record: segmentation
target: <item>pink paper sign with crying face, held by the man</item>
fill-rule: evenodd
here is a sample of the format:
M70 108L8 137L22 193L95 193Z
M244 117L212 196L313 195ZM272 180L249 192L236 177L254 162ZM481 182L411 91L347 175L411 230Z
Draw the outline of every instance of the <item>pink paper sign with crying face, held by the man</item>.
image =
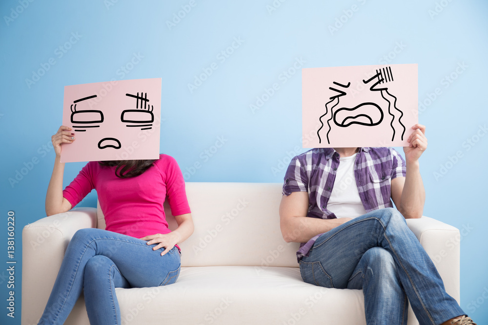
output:
M408 146L417 64L302 69L302 117L304 148Z

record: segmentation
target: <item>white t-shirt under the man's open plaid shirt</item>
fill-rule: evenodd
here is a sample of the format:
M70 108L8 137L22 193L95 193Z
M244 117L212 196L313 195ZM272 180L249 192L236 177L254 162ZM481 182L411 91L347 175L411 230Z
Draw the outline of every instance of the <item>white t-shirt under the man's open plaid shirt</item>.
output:
M327 210L334 212L338 218L356 218L366 214L354 178L356 155L339 158L334 187L327 202Z

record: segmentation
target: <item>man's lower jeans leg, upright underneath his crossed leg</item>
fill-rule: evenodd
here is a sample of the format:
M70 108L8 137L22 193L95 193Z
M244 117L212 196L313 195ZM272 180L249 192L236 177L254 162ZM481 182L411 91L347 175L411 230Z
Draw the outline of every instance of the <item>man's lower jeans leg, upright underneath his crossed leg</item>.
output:
M407 324L408 300L391 254L381 247L366 250L348 289L363 289L366 324Z

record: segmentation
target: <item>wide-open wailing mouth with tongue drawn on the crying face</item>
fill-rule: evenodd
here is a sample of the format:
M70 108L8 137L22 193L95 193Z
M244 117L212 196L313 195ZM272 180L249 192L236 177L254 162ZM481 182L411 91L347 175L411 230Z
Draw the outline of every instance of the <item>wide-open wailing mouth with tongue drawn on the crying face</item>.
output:
M375 126L383 121L383 111L375 103L361 103L354 108L340 108L334 113L334 123L340 127L351 124Z

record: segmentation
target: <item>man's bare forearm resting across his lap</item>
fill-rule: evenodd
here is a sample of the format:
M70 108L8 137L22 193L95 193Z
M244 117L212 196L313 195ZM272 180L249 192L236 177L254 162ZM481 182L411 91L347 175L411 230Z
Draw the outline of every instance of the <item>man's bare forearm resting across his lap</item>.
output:
M283 238L287 243L305 243L313 236L334 229L349 220L349 218L319 219L293 217L286 222L286 225L282 225L281 228Z

